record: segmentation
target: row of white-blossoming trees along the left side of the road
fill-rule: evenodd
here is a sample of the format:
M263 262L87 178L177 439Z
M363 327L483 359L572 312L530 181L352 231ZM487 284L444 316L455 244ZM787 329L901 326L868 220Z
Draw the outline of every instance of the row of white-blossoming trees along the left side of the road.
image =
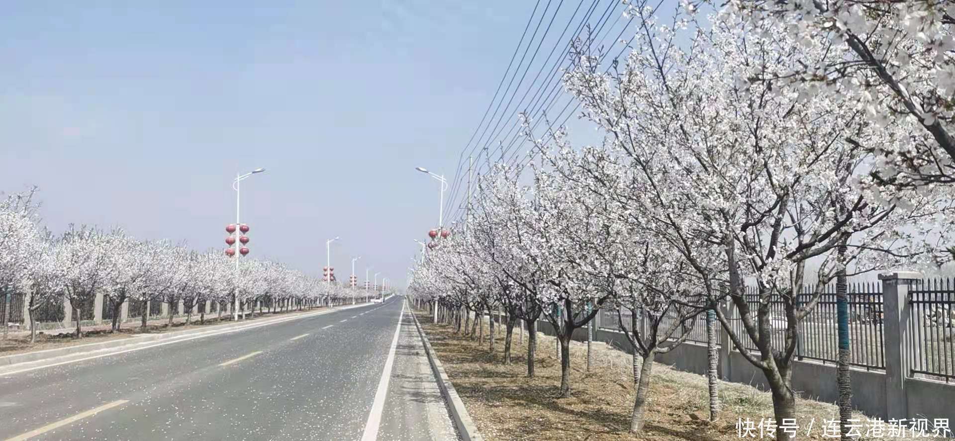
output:
M251 308L254 315L257 304L292 309L366 295L322 283L282 263L230 258L219 249L199 252L169 241L140 241L121 229L71 225L54 236L36 219L34 192L0 201L0 286L30 293L31 320L32 312L48 302L66 300L74 311L77 338L83 335L79 310L91 306L97 292L114 308L114 330L120 325L119 309L129 301L181 303L188 323L193 307L207 302L223 311L238 298L242 309ZM240 259L238 274L235 259ZM174 310L169 308L170 323ZM200 308L200 320L204 311ZM141 317L145 327L147 315Z

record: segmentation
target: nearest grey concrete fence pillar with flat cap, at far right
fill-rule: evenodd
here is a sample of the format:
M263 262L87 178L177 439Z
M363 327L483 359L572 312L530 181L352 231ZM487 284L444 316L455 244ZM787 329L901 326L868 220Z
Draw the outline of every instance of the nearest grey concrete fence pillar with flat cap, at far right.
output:
M910 339L908 322L911 306L908 304L908 290L912 282L922 279L915 271L897 271L880 274L882 282L882 302L884 318L882 331L885 338L885 410L887 418L907 418L908 400L905 378L908 376L910 358L918 347L912 347L906 353L905 341Z

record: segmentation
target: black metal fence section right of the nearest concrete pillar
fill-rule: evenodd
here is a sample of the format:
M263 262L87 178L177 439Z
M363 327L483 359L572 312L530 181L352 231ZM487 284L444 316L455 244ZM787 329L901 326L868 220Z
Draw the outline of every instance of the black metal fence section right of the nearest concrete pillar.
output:
M955 284L951 279L928 279L908 292L909 322L904 356L910 374L955 382Z

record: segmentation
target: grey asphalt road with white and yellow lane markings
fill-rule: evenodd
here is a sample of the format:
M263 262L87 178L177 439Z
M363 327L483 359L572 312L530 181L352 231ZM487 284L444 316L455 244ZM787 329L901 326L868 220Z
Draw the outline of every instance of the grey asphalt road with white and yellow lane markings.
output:
M402 302L0 376L0 440L457 439Z

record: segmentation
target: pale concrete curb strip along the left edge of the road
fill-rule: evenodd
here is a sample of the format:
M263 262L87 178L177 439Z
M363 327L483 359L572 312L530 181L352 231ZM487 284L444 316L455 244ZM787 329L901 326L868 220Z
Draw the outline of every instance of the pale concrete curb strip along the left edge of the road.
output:
M243 321L243 322L232 322L224 325L210 325L202 327L199 329L187 329L180 331L164 332L161 334L144 334L138 335L135 337L129 337L124 339L111 340L109 342L99 342L99 343L89 343L86 345L76 345L72 347L56 347L53 349L44 349L36 350L32 352L24 352L20 354L5 355L0 357L0 368L9 368L13 365L21 365L24 363L30 362L41 362L49 361L61 357L67 357L70 355L78 354L89 354L93 352L98 352L107 349L123 349L128 347L135 347L141 344L153 343L162 340L173 340L178 338L186 338L192 336L199 336L206 333L216 333L234 327L241 326L251 326L251 325L271 325L273 322L286 322L289 320L296 320L300 318L312 317L315 315L327 314L333 311L340 311L343 309L350 309L353 307L368 306L375 304L361 304L361 305L348 305L348 306L339 306L333 309L326 309L322 311L314 311L311 313L293 315L293 316L279 316L279 317L269 317L265 321Z

